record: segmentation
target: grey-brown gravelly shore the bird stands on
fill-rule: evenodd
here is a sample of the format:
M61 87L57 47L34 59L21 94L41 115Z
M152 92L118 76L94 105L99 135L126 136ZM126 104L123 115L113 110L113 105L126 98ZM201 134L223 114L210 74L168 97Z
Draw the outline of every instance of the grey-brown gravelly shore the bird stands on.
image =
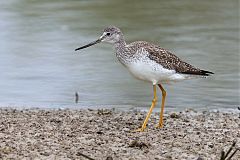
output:
M141 111L2 108L0 159L218 160L233 141L240 146L237 113L167 112L163 129L155 128L159 114L153 113L145 132L132 132L145 116ZM240 151L232 158L237 159Z

